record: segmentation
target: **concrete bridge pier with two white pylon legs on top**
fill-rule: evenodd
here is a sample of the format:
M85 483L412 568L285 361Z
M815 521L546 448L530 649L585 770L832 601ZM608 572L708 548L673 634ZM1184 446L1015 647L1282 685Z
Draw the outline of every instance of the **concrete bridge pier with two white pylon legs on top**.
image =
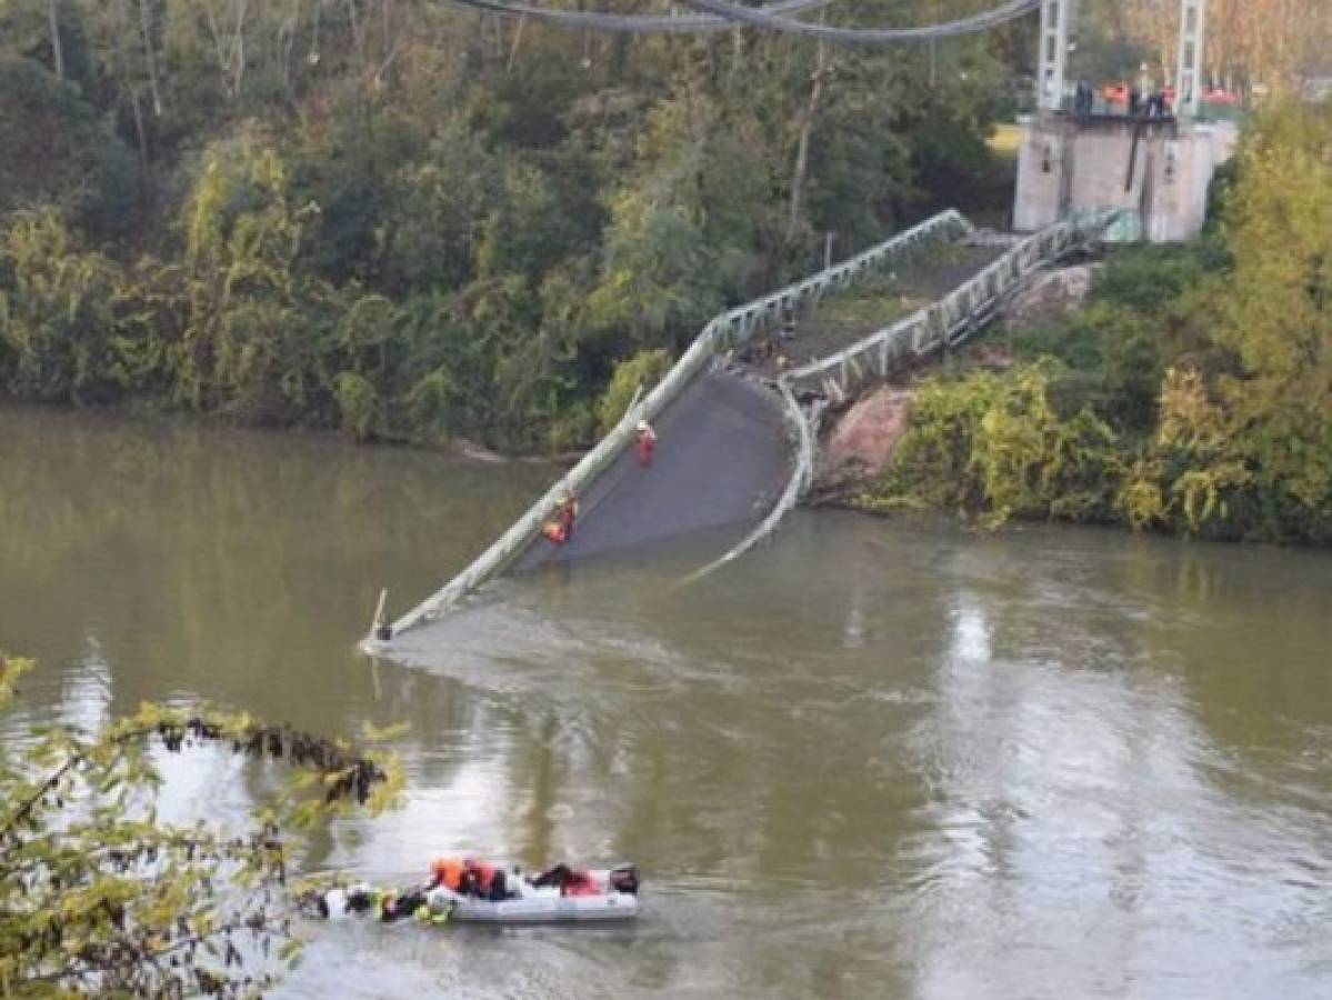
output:
M1180 0L1180 32L1168 109L1098 108L1070 84L1068 61L1082 0L1040 8L1036 112L1019 120L1014 228L1036 230L1071 212L1123 208L1108 240L1188 240L1203 228L1207 189L1235 146L1229 124L1199 121L1207 0Z

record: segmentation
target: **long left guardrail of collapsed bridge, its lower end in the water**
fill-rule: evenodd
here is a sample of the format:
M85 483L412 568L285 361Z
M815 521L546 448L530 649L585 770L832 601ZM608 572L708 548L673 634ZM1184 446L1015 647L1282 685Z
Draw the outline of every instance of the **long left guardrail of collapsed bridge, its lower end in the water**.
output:
M782 321L785 313L817 304L830 289L846 288L868 270L930 244L958 238L972 230L971 222L956 209L947 209L831 268L713 317L670 372L638 406L631 406L591 451L555 481L470 566L398 618L393 623L392 634L398 635L422 622L438 618L468 594L503 573L541 534L542 525L555 511L561 497L566 493L573 495L586 493L597 477L633 443L638 421L653 419L666 409L667 403L711 362L715 354L743 344L759 329L775 326ZM373 651L377 646L380 646L380 640L374 636L364 643L368 651Z

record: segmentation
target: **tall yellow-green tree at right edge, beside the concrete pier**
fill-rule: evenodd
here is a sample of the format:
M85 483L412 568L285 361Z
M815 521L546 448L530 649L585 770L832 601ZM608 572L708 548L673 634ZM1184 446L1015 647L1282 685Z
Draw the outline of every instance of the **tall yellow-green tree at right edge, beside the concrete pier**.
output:
M1199 296L1197 318L1233 358L1209 391L1224 433L1245 445L1244 481L1275 538L1332 533L1329 144L1332 104L1283 104L1257 119L1225 197L1233 268Z

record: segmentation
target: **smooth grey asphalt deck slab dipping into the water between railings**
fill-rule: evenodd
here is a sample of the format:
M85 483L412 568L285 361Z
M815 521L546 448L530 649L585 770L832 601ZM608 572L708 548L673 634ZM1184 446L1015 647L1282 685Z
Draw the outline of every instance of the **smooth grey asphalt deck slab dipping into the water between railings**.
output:
M791 442L775 391L709 372L654 421L658 447L639 469L633 449L579 498L565 545L538 539L518 562L530 569L621 551L725 525L750 525L773 506L791 473Z

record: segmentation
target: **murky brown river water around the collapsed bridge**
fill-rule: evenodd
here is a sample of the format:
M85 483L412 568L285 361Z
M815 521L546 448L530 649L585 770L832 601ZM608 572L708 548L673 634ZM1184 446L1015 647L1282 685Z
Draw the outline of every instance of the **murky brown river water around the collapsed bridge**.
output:
M0 410L0 738L209 699L408 722L309 868L631 859L634 927L316 927L285 996L1332 995L1332 558L802 513L551 569L354 651L539 465ZM238 822L253 764L168 760Z

